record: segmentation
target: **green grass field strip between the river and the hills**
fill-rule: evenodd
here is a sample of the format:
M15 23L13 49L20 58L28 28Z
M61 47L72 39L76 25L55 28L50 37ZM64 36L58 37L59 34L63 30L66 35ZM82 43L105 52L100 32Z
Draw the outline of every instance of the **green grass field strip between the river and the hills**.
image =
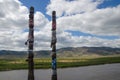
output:
M35 58L35 69L48 69L51 68L50 58ZM120 55L106 56L106 57L71 57L71 58L58 58L57 67L79 67L99 64L120 63ZM0 59L0 71L4 70L18 70L27 69L28 63L26 59Z

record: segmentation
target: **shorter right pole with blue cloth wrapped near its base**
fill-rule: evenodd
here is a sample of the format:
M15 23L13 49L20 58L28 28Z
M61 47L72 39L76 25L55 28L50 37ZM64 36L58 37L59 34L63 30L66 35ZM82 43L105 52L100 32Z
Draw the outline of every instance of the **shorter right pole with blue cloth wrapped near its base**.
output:
M52 80L57 80L57 62L56 62L56 12L52 12Z

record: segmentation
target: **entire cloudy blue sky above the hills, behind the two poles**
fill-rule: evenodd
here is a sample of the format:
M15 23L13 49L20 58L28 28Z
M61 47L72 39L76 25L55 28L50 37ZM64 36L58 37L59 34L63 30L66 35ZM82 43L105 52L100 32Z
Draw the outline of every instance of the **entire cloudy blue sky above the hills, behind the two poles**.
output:
M57 49L120 48L120 0L0 0L0 50L28 50L30 6L35 8L34 50L51 50L53 10Z

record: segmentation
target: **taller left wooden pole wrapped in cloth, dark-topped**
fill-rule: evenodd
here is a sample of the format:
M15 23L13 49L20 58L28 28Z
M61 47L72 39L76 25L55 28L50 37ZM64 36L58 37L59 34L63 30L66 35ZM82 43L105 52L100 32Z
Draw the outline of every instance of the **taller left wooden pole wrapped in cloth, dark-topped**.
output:
M33 45L34 45L34 7L30 7L29 14L29 35L25 43L28 44L28 80L34 80L34 61L33 61Z

